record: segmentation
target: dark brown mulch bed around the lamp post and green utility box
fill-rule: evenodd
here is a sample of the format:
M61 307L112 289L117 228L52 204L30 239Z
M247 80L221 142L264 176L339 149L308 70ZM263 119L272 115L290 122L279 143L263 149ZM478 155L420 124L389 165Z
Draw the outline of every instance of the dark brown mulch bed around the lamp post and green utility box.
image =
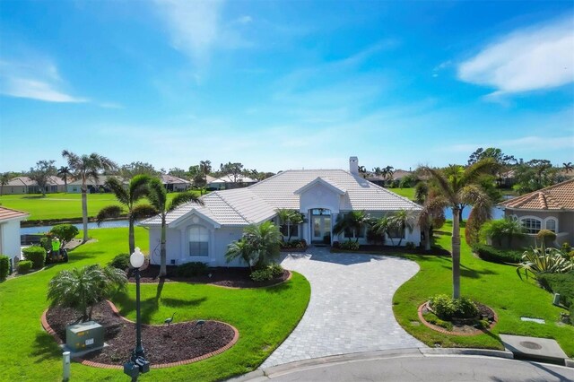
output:
M117 315L108 301L101 301L93 308L91 316L105 327L104 341L109 346L83 355L83 360L121 366L135 348L135 323ZM72 308L49 308L46 313L48 325L65 342L65 326L80 322L81 315ZM152 365L201 357L215 352L231 343L235 337L232 326L217 321L196 321L170 326L142 326L142 344L146 358Z

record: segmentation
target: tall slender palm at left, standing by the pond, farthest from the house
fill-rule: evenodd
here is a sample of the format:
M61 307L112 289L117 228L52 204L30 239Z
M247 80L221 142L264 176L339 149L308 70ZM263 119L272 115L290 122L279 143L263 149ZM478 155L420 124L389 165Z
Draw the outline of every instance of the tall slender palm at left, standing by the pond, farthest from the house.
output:
M116 163L95 152L90 155L79 156L74 152L64 150L62 156L68 162L75 178L82 179L82 222L83 222L83 242L88 241L88 179L98 180L98 171L109 171L117 169Z

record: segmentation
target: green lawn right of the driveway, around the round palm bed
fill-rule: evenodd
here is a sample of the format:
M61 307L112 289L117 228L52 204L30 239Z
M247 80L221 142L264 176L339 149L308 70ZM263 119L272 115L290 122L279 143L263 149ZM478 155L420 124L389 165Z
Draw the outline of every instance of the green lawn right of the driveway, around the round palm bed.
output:
M450 227L448 223L443 230ZM440 334L426 326L413 325L419 322L417 308L422 302L439 293L452 293L451 260L445 256L407 255L421 266L421 271L405 282L393 298L399 324L429 346L503 349L498 334L517 334L553 338L569 357L574 356L574 326L558 324L560 312L566 310L552 305L552 294L532 279L520 280L513 265L475 258L465 244L464 230L461 236L461 293L493 308L499 323L491 333L469 337ZM450 236L439 235L438 244L449 249ZM543 318L546 324L524 322L520 317Z

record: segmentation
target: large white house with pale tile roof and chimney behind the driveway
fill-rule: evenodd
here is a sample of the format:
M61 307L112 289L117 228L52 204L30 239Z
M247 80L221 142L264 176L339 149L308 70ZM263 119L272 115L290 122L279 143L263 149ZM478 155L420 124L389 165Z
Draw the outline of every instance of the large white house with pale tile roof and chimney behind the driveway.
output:
M202 196L204 206L184 204L167 215L168 264L200 261L211 266L225 266L225 252L231 241L241 238L250 223L274 221L276 210L288 208L304 216L300 226L291 226L293 239L313 244L332 244L352 236L345 232L331 235L339 215L365 211L373 217L409 210L419 213L422 207L385 188L361 178L356 157L350 160L350 171L343 169L287 170L250 187L214 191ZM161 219L156 216L141 223L150 228L152 264L160 262ZM421 230L400 232L403 245L419 245ZM397 234L398 236L398 234ZM358 234L366 243L366 230ZM395 240L396 241L396 240ZM388 241L387 241L388 242ZM239 260L230 266L245 266Z

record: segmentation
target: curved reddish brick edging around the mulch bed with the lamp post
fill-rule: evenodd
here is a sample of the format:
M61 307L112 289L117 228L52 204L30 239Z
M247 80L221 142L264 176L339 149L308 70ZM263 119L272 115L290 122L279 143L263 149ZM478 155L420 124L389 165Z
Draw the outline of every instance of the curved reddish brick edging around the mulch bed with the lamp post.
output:
M126 317L123 317L122 315L120 315L119 311L117 310L117 308L113 302L111 302L110 300L107 300L107 301L109 303L109 307L112 309L114 314L117 315L117 317L122 318L126 322L135 324L134 321L129 320ZM46 332L48 332L48 334L50 334L54 337L54 339L57 341L57 343L63 344L64 342L62 341L62 339L56 334L54 329L52 329L52 327L49 326L48 320L46 318L47 313L48 313L48 309L44 310L44 313L42 313L42 317L41 317L42 327L44 328L44 330L46 330ZM152 369L165 369L165 368L173 368L175 366L187 365L189 363L197 362L199 360L206 360L210 357L213 357L214 355L221 354L222 352L229 350L239 340L238 330L235 328L235 326L231 326L230 324L228 324L226 322L222 322L222 321L214 321L214 322L218 322L220 324L230 326L230 328L233 329L233 333L234 333L233 339L230 341L230 343L226 344L222 348L219 348L213 352L208 352L208 353L206 353L204 355L200 355L199 357L196 357L196 358L191 358L189 360L178 360L177 362L161 363L159 365L152 365L151 368ZM176 323L176 324L172 324L172 325L178 325L178 324L183 324L183 323ZM147 325L147 324L145 324L145 325ZM123 366L120 366L120 365L109 365L107 363L92 362L91 360L84 360L81 357L74 357L74 360L85 365L85 366L91 366L91 367L100 368L100 369L123 369L124 368Z

